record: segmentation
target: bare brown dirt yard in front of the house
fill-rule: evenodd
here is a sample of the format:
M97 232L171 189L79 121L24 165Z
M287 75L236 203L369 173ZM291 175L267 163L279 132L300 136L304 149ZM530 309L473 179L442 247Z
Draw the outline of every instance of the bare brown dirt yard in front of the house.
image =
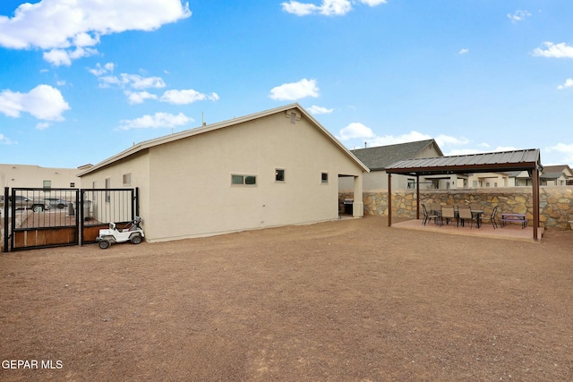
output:
M369 216L2 253L0 288L3 381L573 380L571 231Z

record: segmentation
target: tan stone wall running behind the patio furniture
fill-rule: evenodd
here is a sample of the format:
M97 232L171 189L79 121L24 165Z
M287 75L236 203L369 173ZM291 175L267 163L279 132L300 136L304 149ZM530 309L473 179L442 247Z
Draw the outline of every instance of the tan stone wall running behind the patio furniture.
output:
M392 216L415 218L415 190L392 191ZM352 192L341 192L339 201L352 199ZM500 206L498 213L526 214L533 224L533 194L531 187L490 189L420 190L422 203L467 205L480 203L484 213ZM363 191L364 215L388 216L388 191ZM573 221L573 186L543 186L539 189L539 221L542 226L569 229ZM420 209L422 215L422 209ZM499 218L499 216L498 216Z

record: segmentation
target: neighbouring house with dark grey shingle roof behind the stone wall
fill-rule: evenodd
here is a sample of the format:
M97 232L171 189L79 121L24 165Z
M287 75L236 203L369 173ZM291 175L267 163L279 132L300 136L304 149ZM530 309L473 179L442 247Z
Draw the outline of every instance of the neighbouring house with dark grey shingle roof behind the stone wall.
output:
M386 166L404 159L416 159L423 157L443 157L438 143L435 140L418 140L415 142L399 143L396 145L377 146L365 149L353 149L351 152L370 168L369 174L363 176L363 190L387 190L388 175ZM463 178L459 175L459 178ZM426 188L447 188L449 187L449 176L428 176L421 180ZM454 182L458 182L458 177ZM441 187L440 187L441 186ZM415 187L415 178L406 176L394 176L392 178L392 189L407 189ZM422 186L421 186L422 187ZM352 190L353 184L347 180L341 180L340 191Z

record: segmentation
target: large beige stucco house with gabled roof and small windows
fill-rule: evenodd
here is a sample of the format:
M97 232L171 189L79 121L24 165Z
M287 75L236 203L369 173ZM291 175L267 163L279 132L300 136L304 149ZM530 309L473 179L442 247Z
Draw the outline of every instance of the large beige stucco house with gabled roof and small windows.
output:
M150 242L338 218L338 178L363 216L368 168L291 104L147 140L83 171L84 188L139 187Z

